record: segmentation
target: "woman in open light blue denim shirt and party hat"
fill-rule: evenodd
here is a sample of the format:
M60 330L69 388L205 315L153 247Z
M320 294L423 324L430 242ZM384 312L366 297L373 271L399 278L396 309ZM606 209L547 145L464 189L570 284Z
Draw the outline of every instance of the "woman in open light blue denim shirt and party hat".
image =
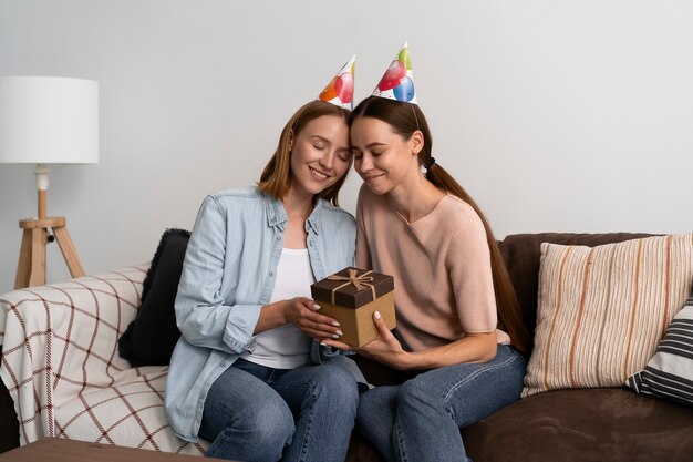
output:
M338 207L352 163L352 64L289 120L257 187L209 195L197 215L166 412L182 439L211 441L209 456L345 458L363 377L314 340L342 332L310 285L353 263L354 218Z

